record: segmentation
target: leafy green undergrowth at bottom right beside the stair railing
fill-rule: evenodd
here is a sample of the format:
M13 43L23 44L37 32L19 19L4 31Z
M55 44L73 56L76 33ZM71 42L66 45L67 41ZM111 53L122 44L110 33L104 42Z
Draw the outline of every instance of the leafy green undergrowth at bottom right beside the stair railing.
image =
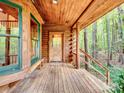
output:
M98 71L105 74L104 70L99 66L92 64ZM110 78L112 80L112 93L124 93L124 69L119 69L117 67L111 66L110 70Z

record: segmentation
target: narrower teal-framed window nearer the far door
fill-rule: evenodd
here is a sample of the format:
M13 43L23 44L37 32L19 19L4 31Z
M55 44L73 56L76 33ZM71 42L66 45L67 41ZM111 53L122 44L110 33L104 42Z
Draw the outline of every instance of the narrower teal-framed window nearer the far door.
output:
M31 64L34 64L40 58L40 25L31 15Z

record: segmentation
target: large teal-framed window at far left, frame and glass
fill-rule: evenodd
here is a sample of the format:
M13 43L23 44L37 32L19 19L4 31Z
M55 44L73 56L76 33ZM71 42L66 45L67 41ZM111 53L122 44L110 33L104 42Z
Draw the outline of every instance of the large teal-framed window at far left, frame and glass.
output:
M0 1L0 72L21 66L20 19L20 6Z

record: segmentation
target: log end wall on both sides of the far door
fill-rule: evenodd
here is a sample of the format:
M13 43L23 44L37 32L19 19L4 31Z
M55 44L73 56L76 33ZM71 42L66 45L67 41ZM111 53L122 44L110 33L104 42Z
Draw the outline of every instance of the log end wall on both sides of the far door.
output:
M43 29L42 32L42 57L47 58L47 62L49 62L49 32L50 30ZM59 32L59 31L58 31ZM72 41L70 35L72 35ZM70 46L70 43L72 45ZM72 47L72 48L71 48ZM76 57L72 54L70 57L70 52L76 53L76 30L73 29L72 33L70 29L64 30L64 62L70 62L72 64L76 64Z

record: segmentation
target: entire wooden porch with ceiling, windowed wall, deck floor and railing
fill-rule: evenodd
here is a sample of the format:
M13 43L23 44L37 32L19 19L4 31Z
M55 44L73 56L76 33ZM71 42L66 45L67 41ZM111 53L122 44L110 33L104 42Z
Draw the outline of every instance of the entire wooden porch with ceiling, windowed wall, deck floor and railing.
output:
M0 0L0 93L108 93L110 72L87 53L87 44L80 49L79 32L122 3ZM80 69L81 63L85 69Z

